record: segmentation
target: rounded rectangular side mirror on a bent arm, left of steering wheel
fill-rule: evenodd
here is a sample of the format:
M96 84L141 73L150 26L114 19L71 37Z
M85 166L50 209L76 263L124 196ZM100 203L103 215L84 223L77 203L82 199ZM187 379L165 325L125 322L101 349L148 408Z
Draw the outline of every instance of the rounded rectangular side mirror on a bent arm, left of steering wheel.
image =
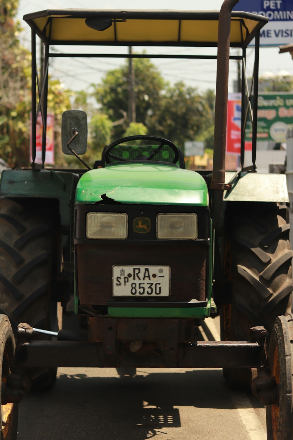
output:
M76 154L84 154L87 151L87 114L82 110L67 110L62 114L61 128L64 154L73 155L67 144L75 132L78 132L78 135L70 143L70 148Z

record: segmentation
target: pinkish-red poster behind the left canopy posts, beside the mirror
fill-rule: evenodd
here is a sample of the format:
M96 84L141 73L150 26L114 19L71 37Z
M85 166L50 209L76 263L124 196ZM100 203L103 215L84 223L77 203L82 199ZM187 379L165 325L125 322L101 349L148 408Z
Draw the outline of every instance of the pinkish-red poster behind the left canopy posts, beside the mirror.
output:
M42 136L43 123L41 114L36 121L36 163L42 163ZM32 147L30 148L30 157L32 160ZM54 164L54 115L47 114L47 135L46 135L46 159L45 164Z

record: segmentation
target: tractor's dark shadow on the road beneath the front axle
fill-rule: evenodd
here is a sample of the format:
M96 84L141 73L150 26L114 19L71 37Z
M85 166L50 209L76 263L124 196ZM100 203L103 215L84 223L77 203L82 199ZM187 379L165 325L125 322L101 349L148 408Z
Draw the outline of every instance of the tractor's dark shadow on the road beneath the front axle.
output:
M18 440L168 439L166 429L181 427L177 407L235 408L221 370L156 369L143 375L151 369L138 368L134 378L120 378L115 369L107 369L110 377L89 377L101 369L86 369L88 375L67 370L59 372L51 391L22 400ZM256 399L253 405L262 407Z

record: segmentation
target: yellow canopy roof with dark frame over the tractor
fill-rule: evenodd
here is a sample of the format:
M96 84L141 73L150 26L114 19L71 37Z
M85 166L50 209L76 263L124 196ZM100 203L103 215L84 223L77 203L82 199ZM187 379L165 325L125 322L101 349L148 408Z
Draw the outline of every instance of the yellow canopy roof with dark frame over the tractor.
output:
M112 25L99 31L86 19L111 19ZM47 44L217 46L219 11L63 9L27 14L24 20ZM261 15L232 11L231 46L246 46L266 22Z

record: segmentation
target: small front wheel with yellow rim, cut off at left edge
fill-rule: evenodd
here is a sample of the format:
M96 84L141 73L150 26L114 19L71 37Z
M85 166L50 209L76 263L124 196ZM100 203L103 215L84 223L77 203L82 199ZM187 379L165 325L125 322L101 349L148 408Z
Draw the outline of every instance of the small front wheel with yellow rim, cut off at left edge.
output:
M15 352L14 334L11 324L6 315L0 315L0 372L1 384L7 381L11 373L12 362ZM1 389L0 389L1 400ZM2 405L0 418L0 439L16 440L18 424L18 403L6 403Z

